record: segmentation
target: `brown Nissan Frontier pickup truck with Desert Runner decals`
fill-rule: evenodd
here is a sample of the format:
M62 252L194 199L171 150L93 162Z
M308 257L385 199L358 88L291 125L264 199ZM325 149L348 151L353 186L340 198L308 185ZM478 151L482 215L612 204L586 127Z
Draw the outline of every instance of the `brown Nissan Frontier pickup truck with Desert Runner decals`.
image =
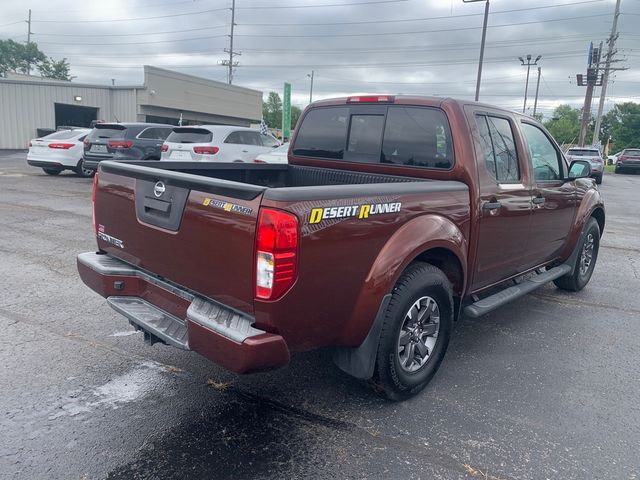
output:
M78 270L148 343L238 373L331 347L398 400L435 374L458 317L587 284L605 222L590 173L488 105L320 101L288 165L101 162L98 251Z

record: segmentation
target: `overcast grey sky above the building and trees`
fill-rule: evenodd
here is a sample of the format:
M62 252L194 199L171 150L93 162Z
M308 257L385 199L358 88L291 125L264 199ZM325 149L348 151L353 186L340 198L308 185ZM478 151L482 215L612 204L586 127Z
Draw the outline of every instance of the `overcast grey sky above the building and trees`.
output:
M75 81L141 84L142 65L226 81L231 0L3 0L0 38L32 41L66 57ZM542 55L538 110L581 106L590 41L611 30L615 0L491 0L480 100L522 109L526 67ZM236 0L234 84L265 92L293 85L293 103L354 93L473 98L484 1ZM640 0L622 0L613 102L640 102ZM149 18L162 17L162 18ZM22 21L22 22L21 22ZM528 111L537 71L531 69Z

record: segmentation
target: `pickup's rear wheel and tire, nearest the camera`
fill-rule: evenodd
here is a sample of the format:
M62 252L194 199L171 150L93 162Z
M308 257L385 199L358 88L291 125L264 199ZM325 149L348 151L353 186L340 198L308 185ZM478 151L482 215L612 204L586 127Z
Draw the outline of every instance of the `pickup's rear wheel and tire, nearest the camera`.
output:
M444 273L415 263L402 274L385 312L374 387L390 400L419 393L442 363L453 328L453 292Z

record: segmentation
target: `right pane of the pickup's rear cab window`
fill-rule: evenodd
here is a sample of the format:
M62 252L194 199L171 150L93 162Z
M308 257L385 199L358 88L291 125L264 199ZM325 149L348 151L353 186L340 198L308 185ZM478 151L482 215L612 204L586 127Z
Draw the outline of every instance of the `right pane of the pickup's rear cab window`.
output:
M444 112L427 107L390 106L381 161L450 169L453 166L453 143Z

